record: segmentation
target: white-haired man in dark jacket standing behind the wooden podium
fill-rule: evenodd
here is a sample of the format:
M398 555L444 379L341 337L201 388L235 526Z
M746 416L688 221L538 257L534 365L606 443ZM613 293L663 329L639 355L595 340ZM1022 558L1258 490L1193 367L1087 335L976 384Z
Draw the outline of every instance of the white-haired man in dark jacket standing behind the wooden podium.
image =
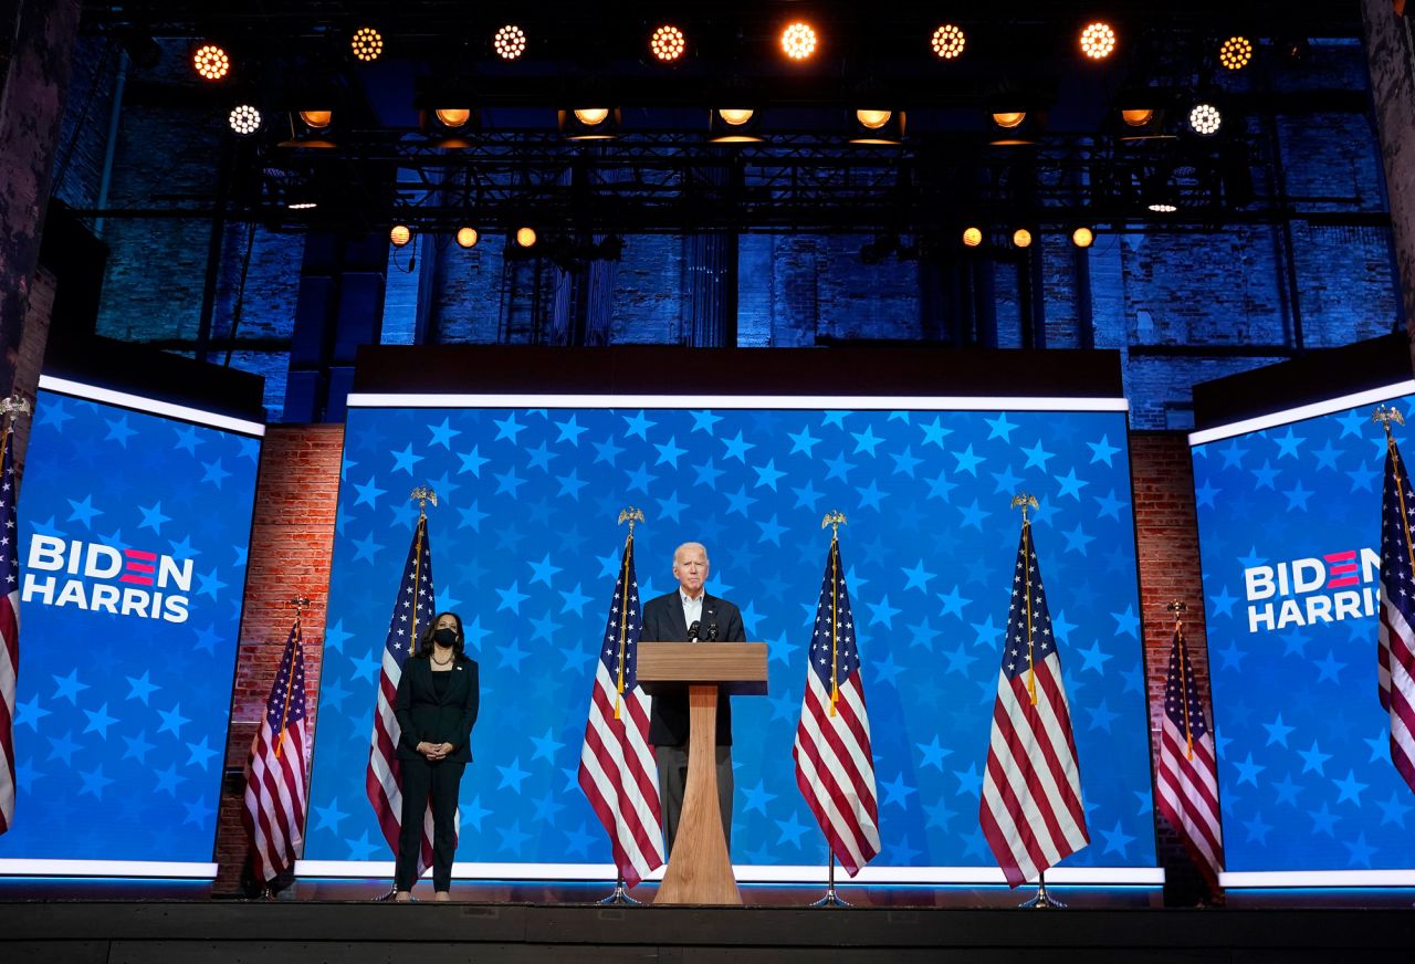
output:
M674 551L674 578L678 589L644 604L644 631L640 638L654 643L744 643L747 633L741 613L726 599L703 590L708 580L708 549L699 542L683 542ZM696 627L696 633L692 631ZM674 849L678 815L683 808L683 784L688 780L688 692L654 696L648 723L648 742L658 763L658 793L664 807L664 842ZM717 804L722 807L722 831L732 847L732 701L717 699Z

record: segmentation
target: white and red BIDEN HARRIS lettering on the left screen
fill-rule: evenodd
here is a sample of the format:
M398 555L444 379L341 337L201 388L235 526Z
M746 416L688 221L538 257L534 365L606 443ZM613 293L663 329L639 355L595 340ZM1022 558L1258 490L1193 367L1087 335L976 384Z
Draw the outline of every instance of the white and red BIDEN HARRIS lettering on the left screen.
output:
M20 602L185 623L191 576L191 559L35 535L25 555Z

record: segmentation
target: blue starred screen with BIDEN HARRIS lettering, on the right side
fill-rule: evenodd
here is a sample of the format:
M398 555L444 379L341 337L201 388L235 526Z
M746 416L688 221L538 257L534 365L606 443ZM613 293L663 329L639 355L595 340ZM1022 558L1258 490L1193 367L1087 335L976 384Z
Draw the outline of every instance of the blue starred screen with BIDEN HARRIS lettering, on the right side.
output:
M1230 871L1415 866L1377 701L1384 460L1370 405L1193 449Z

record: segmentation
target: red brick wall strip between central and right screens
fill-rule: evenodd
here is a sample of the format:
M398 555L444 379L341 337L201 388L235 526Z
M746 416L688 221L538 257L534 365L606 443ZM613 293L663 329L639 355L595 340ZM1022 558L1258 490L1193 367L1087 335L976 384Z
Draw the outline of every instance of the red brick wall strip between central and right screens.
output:
M1194 512L1194 471L1189 442L1177 432L1131 433L1131 484L1135 490L1135 541L1140 568L1140 612L1145 626L1145 684L1150 706L1150 752L1159 746L1165 706L1165 674L1174 624L1166 606L1189 603L1184 638L1204 712L1213 719L1208 696L1208 641L1204 633L1204 586L1199 563L1199 522ZM1204 883L1174 831L1155 817L1157 855L1166 876L1166 903L1196 903Z

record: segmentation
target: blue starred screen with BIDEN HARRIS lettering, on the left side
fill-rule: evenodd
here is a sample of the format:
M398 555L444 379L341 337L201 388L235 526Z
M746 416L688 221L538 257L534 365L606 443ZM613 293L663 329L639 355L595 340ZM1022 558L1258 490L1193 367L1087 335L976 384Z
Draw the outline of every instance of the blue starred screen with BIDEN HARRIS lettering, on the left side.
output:
M211 862L259 453L38 392L0 859Z

